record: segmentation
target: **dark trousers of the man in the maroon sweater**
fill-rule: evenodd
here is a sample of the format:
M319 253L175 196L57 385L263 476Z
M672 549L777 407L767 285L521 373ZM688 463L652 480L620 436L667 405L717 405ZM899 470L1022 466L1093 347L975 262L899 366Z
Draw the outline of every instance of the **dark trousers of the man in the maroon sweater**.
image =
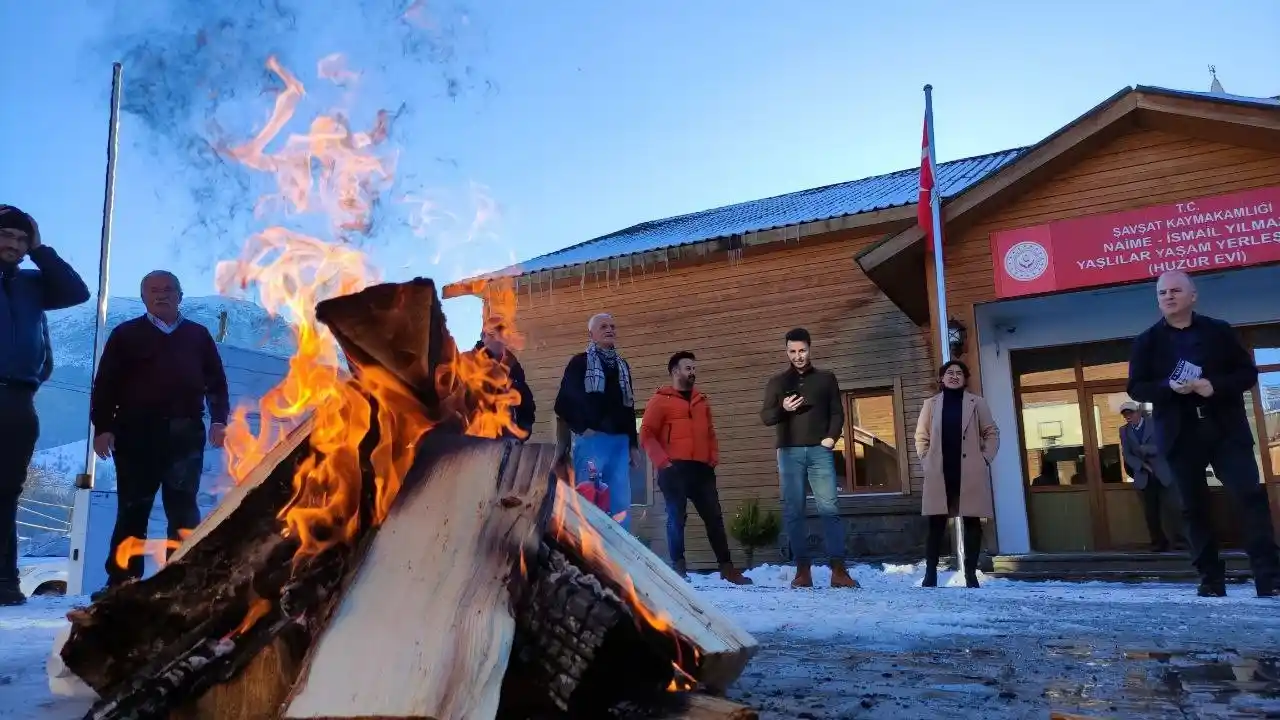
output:
M115 433L115 529L106 559L110 583L141 578L143 557L127 568L115 562L125 538L147 538L156 492L164 502L169 539L200 524L200 475L205 469L205 424L200 419L161 418L122 423Z

